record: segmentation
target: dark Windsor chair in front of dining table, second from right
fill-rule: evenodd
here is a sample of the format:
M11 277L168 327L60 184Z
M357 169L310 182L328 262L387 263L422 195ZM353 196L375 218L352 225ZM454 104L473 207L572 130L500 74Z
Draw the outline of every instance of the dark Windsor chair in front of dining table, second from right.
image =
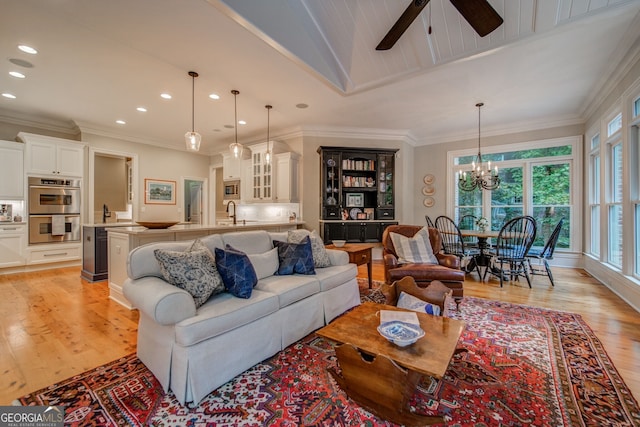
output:
M482 280L490 273L500 279L502 287L504 280L513 281L524 276L531 287L526 256L536 239L536 228L536 220L528 215L513 218L505 223L496 239L492 265L485 269Z

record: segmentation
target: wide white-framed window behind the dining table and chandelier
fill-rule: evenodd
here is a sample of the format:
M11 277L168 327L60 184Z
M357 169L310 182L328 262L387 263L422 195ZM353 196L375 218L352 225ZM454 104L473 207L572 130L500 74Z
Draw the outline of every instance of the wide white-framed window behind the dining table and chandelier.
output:
M510 145L509 151L499 151L494 147L494 152L483 152L483 160L491 160L492 166L495 164L499 168L500 187L493 191L466 192L456 186L452 218L457 221L468 214L484 216L489 219L492 230L500 230L512 218L531 215L538 226L536 247L544 246L560 218L564 218L556 248L571 250L576 244L572 231L579 229L575 224L571 190L573 180L579 177L574 176L573 170L575 145L567 141L563 138L531 142L519 144L521 149L517 150ZM456 156L456 153L450 153L450 159L452 170L460 172L465 170L460 165L471 164L475 155Z

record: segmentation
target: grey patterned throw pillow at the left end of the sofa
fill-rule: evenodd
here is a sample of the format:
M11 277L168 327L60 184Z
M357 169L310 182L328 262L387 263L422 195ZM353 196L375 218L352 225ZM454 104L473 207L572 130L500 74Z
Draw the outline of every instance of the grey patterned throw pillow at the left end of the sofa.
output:
M154 250L164 279L189 292L196 308L213 294L222 292L224 285L211 251L196 239L186 251Z

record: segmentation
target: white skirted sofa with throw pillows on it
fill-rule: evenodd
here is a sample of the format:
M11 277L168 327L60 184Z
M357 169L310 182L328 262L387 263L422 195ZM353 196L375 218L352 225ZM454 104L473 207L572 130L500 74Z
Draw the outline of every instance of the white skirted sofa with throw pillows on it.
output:
M264 230L200 238L214 252L229 244L247 255L266 253L287 233ZM124 295L140 311L140 360L180 403L198 403L253 365L360 304L357 267L346 252L327 250L331 266L315 275L273 275L258 280L251 297L228 292L197 308L192 296L169 283L155 249L184 251L193 241L135 248L128 257ZM252 261L255 262L255 261Z

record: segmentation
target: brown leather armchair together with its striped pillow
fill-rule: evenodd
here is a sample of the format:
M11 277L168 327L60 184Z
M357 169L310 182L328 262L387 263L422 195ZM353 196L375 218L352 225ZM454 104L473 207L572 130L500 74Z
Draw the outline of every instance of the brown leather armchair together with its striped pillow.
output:
M416 284L427 287L438 280L453 291L459 302L463 297L464 271L455 255L440 253L438 230L420 225L391 225L382 234L382 257L386 283L411 276Z

